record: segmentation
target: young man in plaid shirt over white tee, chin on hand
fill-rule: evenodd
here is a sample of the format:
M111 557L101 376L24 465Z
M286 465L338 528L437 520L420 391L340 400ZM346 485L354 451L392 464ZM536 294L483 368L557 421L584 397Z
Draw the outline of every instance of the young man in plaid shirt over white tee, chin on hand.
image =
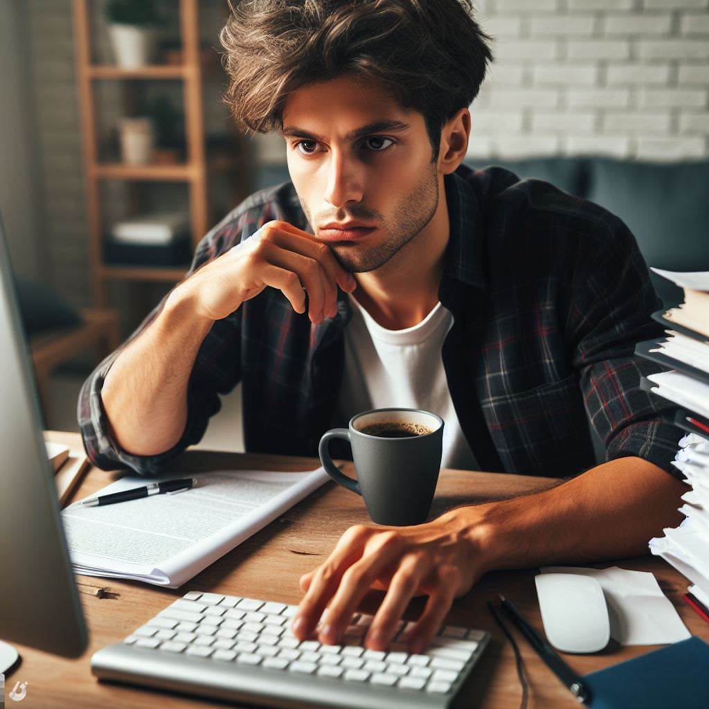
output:
M681 431L633 355L659 333L659 302L632 234L545 182L462 164L486 40L468 0L239 4L222 33L227 100L240 124L284 136L292 182L217 225L82 391L103 467L160 469L242 381L247 450L316 455L353 413L413 406L445 419L444 465L570 477L417 527L347 530L301 580L301 638L327 607L319 637L337 642L384 588L367 645L386 647L427 595L415 651L490 569L644 554L679 521Z

